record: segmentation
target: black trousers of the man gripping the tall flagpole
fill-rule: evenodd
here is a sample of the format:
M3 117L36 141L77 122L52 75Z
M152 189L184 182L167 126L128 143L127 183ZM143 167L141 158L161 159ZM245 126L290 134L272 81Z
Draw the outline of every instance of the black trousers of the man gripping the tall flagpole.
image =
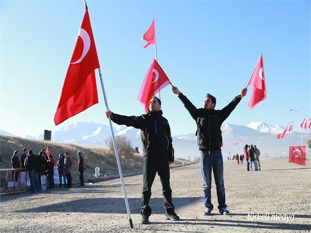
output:
M151 197L151 187L155 180L157 172L162 184L162 193L164 197L164 206L167 214L173 214L174 205L172 202L172 189L170 186L170 166L168 160L150 161L144 160L143 167L143 187L141 195L141 210L140 214L145 216L151 215L149 201Z

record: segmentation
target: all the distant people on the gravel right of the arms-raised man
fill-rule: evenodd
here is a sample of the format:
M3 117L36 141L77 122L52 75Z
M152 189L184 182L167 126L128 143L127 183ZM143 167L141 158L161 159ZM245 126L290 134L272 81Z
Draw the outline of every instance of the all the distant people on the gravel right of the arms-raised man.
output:
M243 148L243 154L236 154L233 155L231 157L231 155L229 155L227 157L227 160L236 160L238 164L243 164L243 161L246 160L247 163L247 171L252 171L253 170L253 166L254 166L254 170L255 171L260 171L260 160L259 160L259 156L260 156L260 150L257 148L256 145L253 146L253 144L251 145L245 145Z

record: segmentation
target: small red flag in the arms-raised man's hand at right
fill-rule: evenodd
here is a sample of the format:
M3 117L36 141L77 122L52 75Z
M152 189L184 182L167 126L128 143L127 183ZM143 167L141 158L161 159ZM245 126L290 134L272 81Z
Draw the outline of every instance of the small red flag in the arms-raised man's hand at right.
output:
M248 108L253 109L260 101L267 99L266 84L263 72L262 53L247 85L253 86Z

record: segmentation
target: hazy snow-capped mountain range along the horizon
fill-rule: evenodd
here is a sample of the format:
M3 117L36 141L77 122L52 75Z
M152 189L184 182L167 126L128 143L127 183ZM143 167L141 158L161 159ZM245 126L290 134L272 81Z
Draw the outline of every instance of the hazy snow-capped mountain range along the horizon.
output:
M283 139L276 139L276 134L282 132L285 127L272 126L265 122L251 122L247 126L226 124L221 127L224 146L222 147L223 157L234 154L242 154L245 144L257 145L261 157L288 157L289 146L301 145L301 134L298 131L291 131L285 134ZM133 127L118 126L113 128L115 135L124 135L132 143L132 147L138 147L142 151L140 132ZM0 134L14 136L11 133L0 131ZM27 139L42 140L43 134L37 136L27 135ZM93 122L75 122L57 131L52 131L52 141L59 143L71 143L82 146L104 147L105 140L111 137L108 125ZM194 160L199 156L195 132L175 135L173 147L175 157ZM309 139L309 132L303 132L304 145ZM234 145L236 144L236 145ZM308 157L309 154L309 157ZM307 158L310 158L310 150L307 149Z

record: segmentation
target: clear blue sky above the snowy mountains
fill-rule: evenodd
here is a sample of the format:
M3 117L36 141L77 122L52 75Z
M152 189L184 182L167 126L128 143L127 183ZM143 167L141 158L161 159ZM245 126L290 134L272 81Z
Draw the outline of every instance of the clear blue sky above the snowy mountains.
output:
M140 115L140 85L155 58L142 34L155 11L158 63L194 105L207 93L216 109L246 86L263 54L267 100L247 108L252 87L225 121L282 125L311 116L311 3L277 1L87 0L110 110ZM0 129L38 135L75 121L109 124L100 80L100 103L59 126L53 117L85 13L83 0L0 1ZM172 134L196 130L171 86L161 91Z

